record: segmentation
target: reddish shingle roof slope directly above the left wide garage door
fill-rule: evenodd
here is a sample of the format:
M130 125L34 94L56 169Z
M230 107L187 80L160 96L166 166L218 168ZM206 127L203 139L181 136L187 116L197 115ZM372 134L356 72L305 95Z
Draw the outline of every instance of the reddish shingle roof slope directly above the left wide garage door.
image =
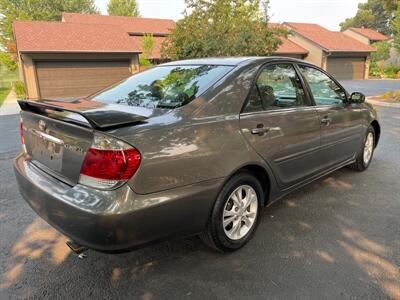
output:
M15 21L13 29L21 52L142 52L120 26Z

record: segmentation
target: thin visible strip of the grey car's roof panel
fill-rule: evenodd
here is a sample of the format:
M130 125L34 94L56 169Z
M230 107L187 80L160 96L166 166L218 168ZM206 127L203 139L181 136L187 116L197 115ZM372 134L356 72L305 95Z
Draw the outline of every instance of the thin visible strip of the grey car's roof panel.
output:
M293 61L303 62L303 60L284 56L239 56L239 57L209 57L196 58L187 60L177 60L161 64L160 66L177 66L177 65L221 65L221 66L238 66L242 63L251 63L256 61Z

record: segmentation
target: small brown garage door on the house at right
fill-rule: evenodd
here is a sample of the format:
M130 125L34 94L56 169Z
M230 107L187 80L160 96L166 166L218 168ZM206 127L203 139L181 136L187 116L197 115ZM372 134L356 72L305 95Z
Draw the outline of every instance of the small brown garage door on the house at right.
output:
M328 72L336 79L364 79L365 58L329 58Z

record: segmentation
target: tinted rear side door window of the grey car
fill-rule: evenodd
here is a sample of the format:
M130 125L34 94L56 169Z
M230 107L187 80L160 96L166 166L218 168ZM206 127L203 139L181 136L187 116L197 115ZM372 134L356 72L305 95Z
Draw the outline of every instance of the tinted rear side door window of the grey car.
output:
M261 103L260 103L261 102ZM258 104L259 103L259 104ZM290 64L266 66L250 92L246 112L308 105L300 78Z

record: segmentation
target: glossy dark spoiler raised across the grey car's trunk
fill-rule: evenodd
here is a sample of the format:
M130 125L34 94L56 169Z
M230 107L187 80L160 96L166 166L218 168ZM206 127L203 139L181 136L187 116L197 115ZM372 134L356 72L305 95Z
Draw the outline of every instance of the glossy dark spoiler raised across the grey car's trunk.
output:
M90 102L90 105L88 103ZM60 119L77 125L105 130L127 124L141 123L146 116L130 113L126 106L106 104L93 100L61 102L52 100L19 100L21 110ZM69 108L76 106L76 109ZM95 108L87 108L87 107Z

